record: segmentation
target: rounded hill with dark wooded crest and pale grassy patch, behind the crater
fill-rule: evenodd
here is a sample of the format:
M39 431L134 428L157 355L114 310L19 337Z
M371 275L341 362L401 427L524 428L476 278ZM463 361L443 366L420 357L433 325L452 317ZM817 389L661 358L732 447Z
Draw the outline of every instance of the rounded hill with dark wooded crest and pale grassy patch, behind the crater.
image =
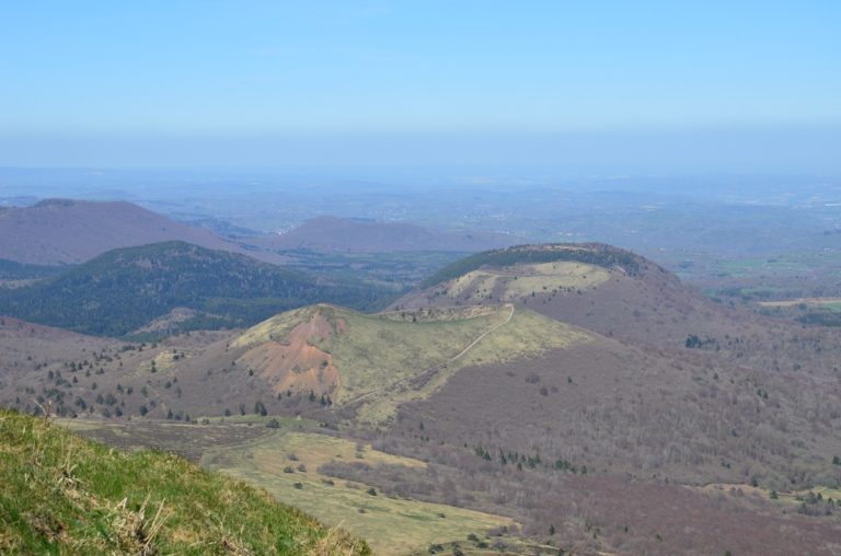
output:
M731 321L742 316L657 264L602 244L520 245L477 253L442 268L393 306L500 302L516 302L630 344L670 347L682 347L693 334L736 333L738 325Z

